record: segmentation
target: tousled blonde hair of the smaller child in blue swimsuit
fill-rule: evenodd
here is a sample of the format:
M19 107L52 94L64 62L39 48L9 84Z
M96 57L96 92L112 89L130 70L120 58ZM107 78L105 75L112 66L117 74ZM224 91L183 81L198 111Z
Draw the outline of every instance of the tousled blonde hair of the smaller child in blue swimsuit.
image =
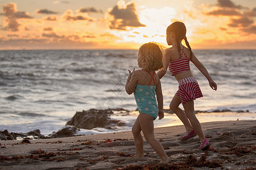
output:
M145 62L144 69L158 71L164 67L163 46L156 42L148 42L139 48L139 57Z

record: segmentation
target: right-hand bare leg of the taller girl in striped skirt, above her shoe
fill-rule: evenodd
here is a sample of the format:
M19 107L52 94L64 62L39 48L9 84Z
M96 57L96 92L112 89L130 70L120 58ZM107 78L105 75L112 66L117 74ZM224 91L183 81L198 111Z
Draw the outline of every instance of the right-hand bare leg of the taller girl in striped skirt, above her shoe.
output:
M200 125L200 122L196 118L194 100L189 100L187 103L183 104L183 107L185 109L185 114L187 115L189 121L191 122L191 125L193 126L194 130L196 131L196 134L199 136L201 142L203 143L205 141L205 136Z

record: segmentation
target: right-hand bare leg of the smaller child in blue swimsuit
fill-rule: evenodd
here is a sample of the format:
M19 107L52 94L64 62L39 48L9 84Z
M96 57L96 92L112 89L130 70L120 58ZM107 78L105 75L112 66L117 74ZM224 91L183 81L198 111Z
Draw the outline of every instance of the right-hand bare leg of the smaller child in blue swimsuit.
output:
M161 162L160 163L168 163L170 160L163 149L163 146L159 141L155 139L154 134L154 122L152 116L146 113L140 113L139 122L141 123L141 129L144 134L144 138L150 143L150 146L156 151L159 155Z

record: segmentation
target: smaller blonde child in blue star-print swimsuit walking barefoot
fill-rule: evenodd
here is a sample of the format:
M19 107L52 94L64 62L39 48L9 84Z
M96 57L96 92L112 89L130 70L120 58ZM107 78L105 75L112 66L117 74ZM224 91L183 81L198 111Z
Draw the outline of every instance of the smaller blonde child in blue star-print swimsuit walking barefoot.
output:
M134 93L139 110L139 116L132 129L136 148L134 158L143 158L142 131L146 141L159 155L160 163L168 163L169 159L163 146L155 139L153 122L157 117L159 120L164 117L162 87L158 75L155 74L155 71L163 68L163 61L162 48L158 44L143 44L138 52L138 66L141 70L128 70L125 89L129 95Z

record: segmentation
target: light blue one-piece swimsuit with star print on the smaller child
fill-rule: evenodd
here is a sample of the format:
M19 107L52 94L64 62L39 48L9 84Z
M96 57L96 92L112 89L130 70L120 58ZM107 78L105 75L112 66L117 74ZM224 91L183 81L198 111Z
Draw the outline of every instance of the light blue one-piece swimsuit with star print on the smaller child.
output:
M134 91L134 97L137 103L139 113L149 114L153 117L153 120L155 120L158 117L158 104L156 103L155 98L156 86L150 86L152 80L154 80L155 72L153 73L153 75L150 73L150 75L151 80L148 86L142 86L140 84L137 84Z

